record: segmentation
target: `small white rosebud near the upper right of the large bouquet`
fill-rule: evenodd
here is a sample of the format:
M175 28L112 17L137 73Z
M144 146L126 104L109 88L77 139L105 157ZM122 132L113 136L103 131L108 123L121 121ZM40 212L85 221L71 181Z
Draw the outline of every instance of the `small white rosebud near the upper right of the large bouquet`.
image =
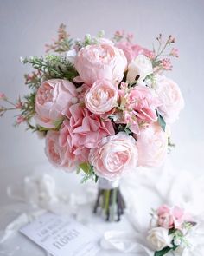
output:
M128 65L127 82L134 82L137 75L139 75L139 81L142 82L147 75L152 73L153 68L150 58L144 55L138 55Z

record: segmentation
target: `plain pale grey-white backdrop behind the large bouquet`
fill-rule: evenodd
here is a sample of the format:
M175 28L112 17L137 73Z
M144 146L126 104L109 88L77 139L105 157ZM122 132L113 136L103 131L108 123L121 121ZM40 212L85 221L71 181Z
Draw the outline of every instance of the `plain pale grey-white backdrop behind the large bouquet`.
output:
M146 47L160 32L172 34L180 58L169 76L180 85L186 108L173 128L177 147L171 157L181 167L203 167L203 11L203 0L0 0L0 91L10 98L27 91L23 74L29 67L19 57L41 56L60 23L73 37L124 29ZM0 119L0 170L46 161L44 142L23 126L13 128L12 116Z

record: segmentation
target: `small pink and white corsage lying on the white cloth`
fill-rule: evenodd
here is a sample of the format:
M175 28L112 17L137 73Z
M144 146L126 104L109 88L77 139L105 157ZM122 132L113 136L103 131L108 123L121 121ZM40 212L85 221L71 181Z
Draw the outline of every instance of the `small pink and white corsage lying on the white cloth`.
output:
M175 251L181 253L191 247L192 229L196 222L180 207L163 205L151 213L147 240L156 251L154 256L163 256Z

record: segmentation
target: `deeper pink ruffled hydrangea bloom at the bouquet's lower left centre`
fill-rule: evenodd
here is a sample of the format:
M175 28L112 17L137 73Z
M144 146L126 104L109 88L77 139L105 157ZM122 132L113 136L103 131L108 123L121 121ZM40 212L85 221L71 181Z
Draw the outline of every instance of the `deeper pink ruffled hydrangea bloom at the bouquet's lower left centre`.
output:
M60 144L68 147L74 161L87 161L90 148L96 148L103 137L115 134L111 121L101 121L99 115L79 103L69 108L67 117L69 120L61 127Z

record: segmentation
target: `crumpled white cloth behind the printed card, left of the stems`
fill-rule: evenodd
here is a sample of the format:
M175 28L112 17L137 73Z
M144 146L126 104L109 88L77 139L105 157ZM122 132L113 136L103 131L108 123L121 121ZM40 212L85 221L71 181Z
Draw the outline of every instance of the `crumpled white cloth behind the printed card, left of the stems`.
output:
M42 167L43 169L44 167ZM81 188L78 191L70 193L66 184L61 186L63 174L61 179L59 179L59 175L57 175L58 178L54 175L56 175L55 172L38 171L35 174L26 176L21 185L18 184L7 188L9 197L15 199L16 202L23 203L23 207L19 204L18 207L20 209L19 213L16 214L16 219L11 220L3 230L0 228L0 244L17 233L21 226L35 220L35 218L47 211L72 215L76 220L84 223L90 220L92 202L97 193L96 187L92 186L92 184L89 187L80 186Z

